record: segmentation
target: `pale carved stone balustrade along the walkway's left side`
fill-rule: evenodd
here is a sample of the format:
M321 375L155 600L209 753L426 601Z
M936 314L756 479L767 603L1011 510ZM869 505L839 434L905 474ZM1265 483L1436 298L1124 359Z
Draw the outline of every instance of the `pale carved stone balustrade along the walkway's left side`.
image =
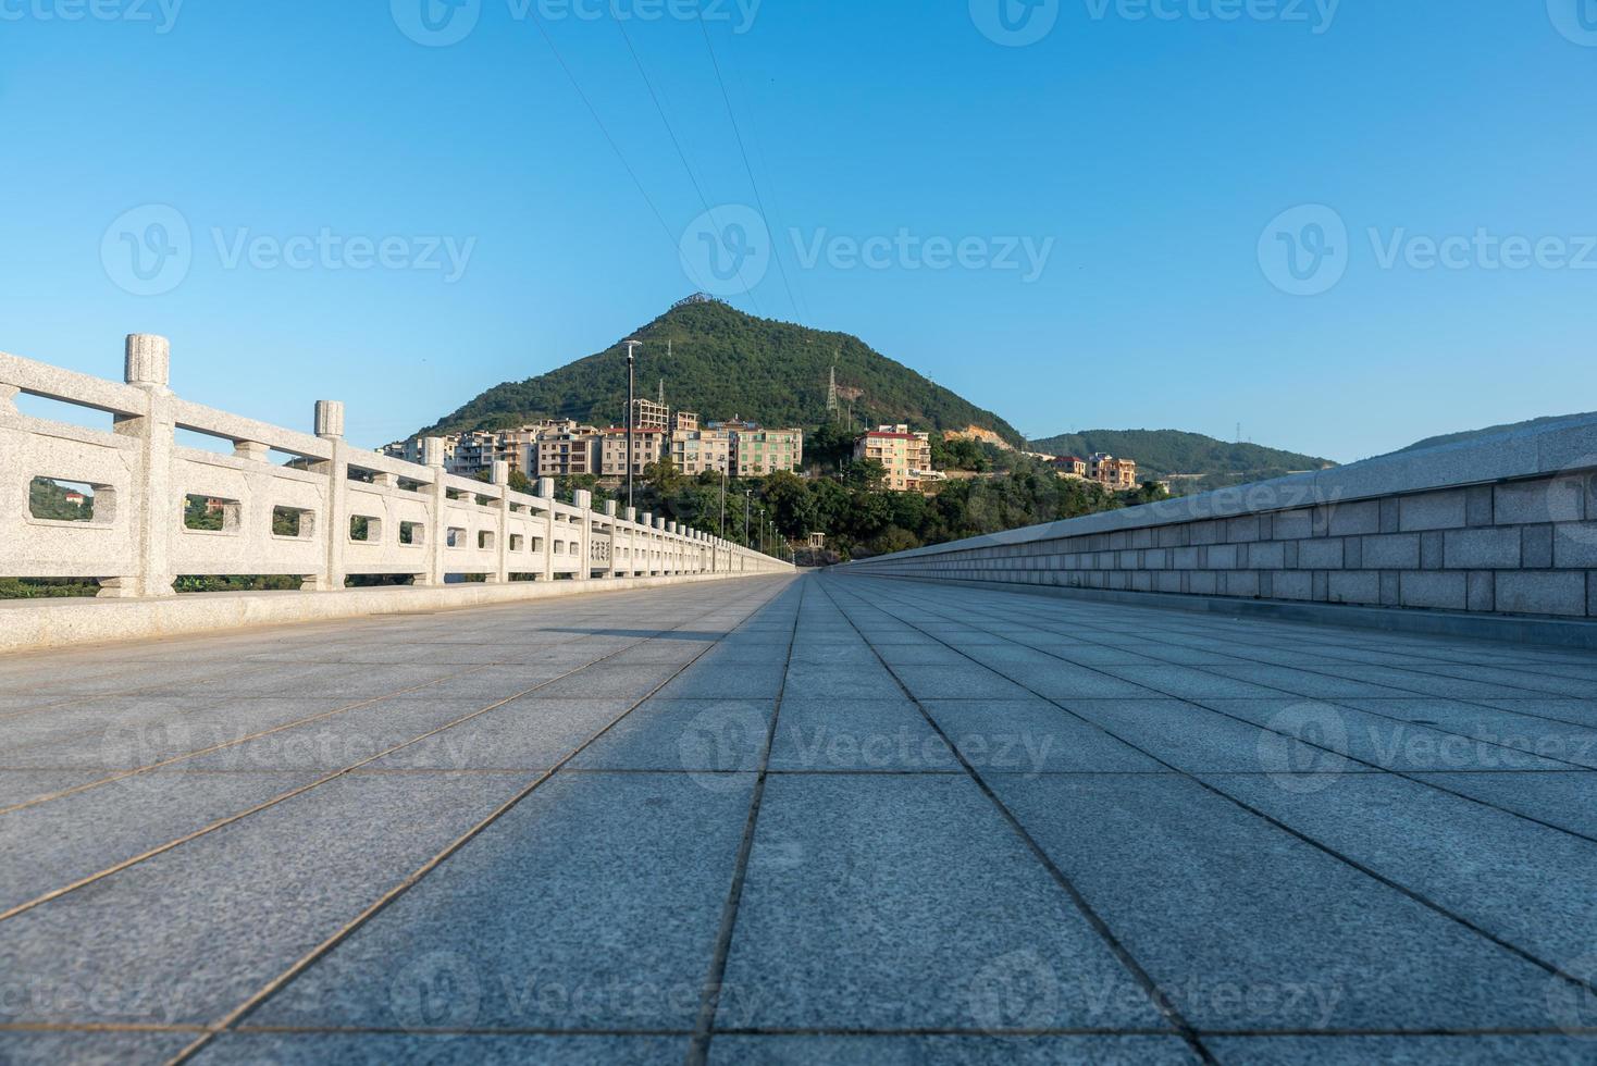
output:
M315 434L192 404L168 388L169 367L166 338L150 335L128 337L125 385L0 353L0 576L166 597L179 574L335 590L359 576L441 586L792 570L647 512L616 514L615 503L596 512L586 492L561 503L549 479L535 495L513 492L503 461L492 482L449 474L436 437L422 464L353 448L334 401L316 402ZM22 415L18 394L107 412L112 429ZM233 452L184 447L177 429ZM35 514L42 479L85 485L86 520ZM195 499L203 523L185 520Z

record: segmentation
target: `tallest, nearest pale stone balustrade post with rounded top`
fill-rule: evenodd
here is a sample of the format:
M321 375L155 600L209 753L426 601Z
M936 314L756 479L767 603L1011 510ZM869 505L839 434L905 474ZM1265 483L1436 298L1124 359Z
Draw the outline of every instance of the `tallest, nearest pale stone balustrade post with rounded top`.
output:
M117 415L112 432L139 442L126 507L133 535L133 573L101 582L105 598L176 595L171 568L172 538L182 525L182 507L172 487L172 349L164 337L129 334L123 380L144 393L141 415Z

